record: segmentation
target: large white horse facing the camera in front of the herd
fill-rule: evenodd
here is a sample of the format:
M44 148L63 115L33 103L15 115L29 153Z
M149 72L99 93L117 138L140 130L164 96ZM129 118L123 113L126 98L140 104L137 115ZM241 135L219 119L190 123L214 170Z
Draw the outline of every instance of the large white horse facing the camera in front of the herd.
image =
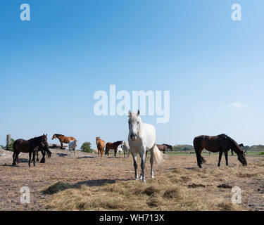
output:
M156 146L156 129L153 125L142 122L141 118L139 117L139 110L137 113L131 113L131 111L129 111L128 117L130 118L128 120L128 126L130 129L130 133L128 134L128 143L130 145L130 151L134 160L135 179L138 179L137 153L139 153L140 157L142 158L142 174L140 179L142 179L143 182L146 182L144 174L146 164L146 150L151 151L151 178L154 178L153 161L155 160L157 164L163 162L163 155Z

